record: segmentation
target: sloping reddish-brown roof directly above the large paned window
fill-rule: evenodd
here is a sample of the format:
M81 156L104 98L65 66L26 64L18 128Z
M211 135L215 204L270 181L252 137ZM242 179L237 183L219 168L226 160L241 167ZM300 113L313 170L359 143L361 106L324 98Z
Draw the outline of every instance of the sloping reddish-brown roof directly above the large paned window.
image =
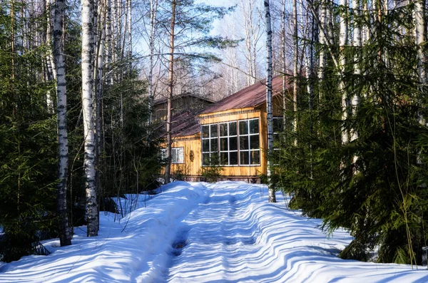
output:
M243 88L237 93L233 93L233 95L218 101L218 103L208 106L200 114L260 106L260 104L266 101L265 81L258 81L258 83ZM282 76L275 76L272 79L272 91L274 96L282 92Z

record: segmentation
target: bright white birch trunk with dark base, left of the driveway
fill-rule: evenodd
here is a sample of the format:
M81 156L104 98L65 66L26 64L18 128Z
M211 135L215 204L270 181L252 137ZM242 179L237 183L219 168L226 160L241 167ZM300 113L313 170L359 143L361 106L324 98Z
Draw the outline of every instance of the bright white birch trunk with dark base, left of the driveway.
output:
M82 7L82 109L85 138L87 235L98 235L98 205L95 185L95 136L93 125L93 1L81 0Z

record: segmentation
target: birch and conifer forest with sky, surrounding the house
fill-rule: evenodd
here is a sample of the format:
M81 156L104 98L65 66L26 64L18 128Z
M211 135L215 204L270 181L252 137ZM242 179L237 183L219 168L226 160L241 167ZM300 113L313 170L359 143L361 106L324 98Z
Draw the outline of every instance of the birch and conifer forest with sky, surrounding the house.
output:
M265 78L270 96L282 76L271 200L349 230L344 259L422 264L427 2L220 2L0 0L1 261L71 245L73 227L94 237L100 211L123 211L111 197L169 182L174 96Z

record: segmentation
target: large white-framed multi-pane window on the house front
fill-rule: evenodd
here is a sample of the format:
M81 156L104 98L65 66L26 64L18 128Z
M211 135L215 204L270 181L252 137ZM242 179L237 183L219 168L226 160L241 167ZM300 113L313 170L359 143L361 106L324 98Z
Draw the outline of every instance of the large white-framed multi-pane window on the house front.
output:
M259 119L202 126L202 165L259 165Z

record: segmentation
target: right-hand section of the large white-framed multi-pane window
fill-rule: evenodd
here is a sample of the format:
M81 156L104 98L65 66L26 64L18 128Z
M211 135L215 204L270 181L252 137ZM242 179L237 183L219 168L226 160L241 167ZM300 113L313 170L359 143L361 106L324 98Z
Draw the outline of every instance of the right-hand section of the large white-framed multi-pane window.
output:
M260 164L259 120L239 121L240 165Z

